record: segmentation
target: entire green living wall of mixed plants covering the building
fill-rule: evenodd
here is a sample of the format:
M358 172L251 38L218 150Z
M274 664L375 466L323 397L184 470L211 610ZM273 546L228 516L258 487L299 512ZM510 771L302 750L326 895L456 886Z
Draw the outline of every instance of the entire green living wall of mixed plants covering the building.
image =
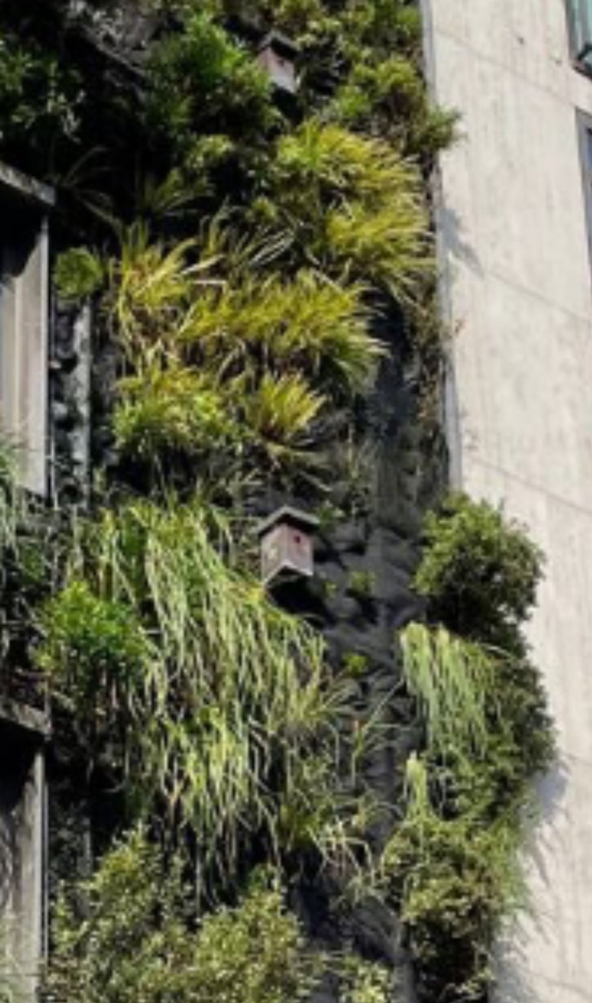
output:
M90 482L0 470L6 671L53 720L43 999L487 999L553 732L542 555L446 490L455 124L413 2L1 5L0 158L58 194L54 323L92 316ZM282 505L315 576L266 589Z

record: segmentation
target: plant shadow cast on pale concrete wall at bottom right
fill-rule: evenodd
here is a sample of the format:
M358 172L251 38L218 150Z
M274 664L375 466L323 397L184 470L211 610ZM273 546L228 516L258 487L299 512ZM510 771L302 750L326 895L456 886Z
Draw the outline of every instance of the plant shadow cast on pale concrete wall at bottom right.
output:
M532 945L535 939L540 942L540 951L557 950L558 918L544 908L539 897L545 902L552 901L553 885L557 882L556 874L551 874L549 869L552 855L559 852L564 857L567 853L559 829L565 832L567 827L565 791L569 773L569 764L558 760L554 769L537 785L539 816L533 824L524 857L525 874L535 891L526 911L509 926L498 947L494 960L497 989L492 1003L540 1003L542 973L534 968L527 945ZM539 980L538 987L533 984L534 979Z

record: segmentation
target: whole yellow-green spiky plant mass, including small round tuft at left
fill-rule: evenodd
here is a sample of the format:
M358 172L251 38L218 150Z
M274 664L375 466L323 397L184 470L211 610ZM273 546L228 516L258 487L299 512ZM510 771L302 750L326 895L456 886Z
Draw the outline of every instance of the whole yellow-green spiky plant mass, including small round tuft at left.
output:
M415 169L317 118L279 139L248 215L243 237L232 217L173 245L137 222L106 262L84 248L58 260L66 298L107 277L126 370L116 445L153 473L199 460L210 483L222 469L318 476L384 354L385 304L410 302L429 272Z

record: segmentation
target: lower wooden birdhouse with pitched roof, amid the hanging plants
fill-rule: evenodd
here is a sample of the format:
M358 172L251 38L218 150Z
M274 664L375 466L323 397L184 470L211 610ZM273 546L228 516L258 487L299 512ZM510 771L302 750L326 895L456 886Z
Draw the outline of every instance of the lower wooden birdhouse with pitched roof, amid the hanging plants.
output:
M314 575L314 516L284 506L259 526L261 578L265 585L286 576Z

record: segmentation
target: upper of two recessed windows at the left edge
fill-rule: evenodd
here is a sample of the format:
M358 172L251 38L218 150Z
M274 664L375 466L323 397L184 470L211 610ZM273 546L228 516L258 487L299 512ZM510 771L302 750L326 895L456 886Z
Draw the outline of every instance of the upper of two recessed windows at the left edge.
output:
M47 486L46 214L51 191L0 164L0 432L17 447L20 480Z

